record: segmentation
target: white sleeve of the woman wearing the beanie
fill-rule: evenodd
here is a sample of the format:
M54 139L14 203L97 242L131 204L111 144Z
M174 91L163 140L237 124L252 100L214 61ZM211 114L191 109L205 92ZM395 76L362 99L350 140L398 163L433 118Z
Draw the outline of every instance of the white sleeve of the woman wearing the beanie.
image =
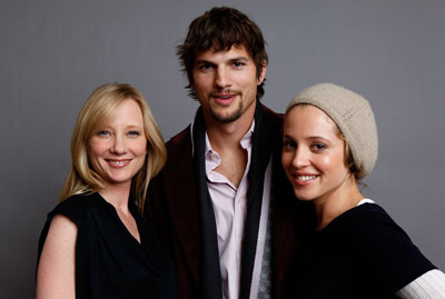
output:
M444 299L445 273L431 270L402 288L396 295L404 299Z

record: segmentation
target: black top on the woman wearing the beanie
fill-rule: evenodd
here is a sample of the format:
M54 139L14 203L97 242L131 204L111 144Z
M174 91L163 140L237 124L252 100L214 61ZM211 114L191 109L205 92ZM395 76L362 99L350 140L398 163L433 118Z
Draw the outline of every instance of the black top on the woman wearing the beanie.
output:
M396 298L436 267L375 203L364 203L314 232L289 279L289 298Z

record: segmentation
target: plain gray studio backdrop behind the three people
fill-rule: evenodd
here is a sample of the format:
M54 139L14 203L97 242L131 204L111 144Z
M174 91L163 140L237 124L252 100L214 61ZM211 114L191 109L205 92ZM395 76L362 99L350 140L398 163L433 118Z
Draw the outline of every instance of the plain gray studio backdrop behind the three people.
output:
M34 296L38 237L89 93L135 84L172 137L197 108L175 46L195 17L221 4L264 31L265 104L284 111L298 90L325 81L369 99L380 146L366 195L445 269L443 0L1 0L1 298Z

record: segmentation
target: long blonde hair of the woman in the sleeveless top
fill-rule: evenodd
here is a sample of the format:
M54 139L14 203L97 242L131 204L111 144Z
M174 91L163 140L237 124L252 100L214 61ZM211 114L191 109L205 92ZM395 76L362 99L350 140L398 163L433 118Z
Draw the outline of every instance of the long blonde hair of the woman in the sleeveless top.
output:
M162 136L151 111L139 90L122 83L108 83L97 88L80 110L71 137L71 169L60 193L60 201L82 193L92 193L105 187L88 158L89 140L112 112L126 100L135 100L142 111L147 137L147 156L142 168L131 180L130 196L142 213L148 185L162 169L167 151Z

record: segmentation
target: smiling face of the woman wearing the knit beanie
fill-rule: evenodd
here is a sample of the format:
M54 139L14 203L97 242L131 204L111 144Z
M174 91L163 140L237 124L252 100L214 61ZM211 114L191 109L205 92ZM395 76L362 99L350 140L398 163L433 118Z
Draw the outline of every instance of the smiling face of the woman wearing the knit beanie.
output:
M320 109L298 104L286 116L281 163L300 200L323 202L345 190L345 141Z

